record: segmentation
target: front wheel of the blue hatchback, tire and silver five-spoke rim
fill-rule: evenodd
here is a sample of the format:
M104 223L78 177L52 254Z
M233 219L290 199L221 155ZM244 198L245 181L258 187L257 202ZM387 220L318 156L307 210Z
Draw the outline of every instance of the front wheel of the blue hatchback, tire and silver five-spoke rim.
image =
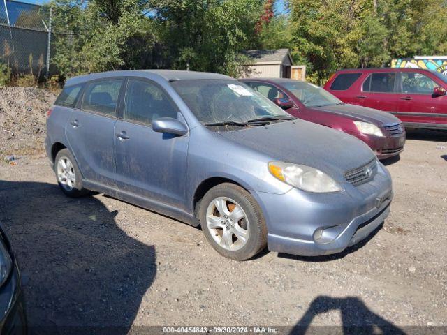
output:
M226 258L248 260L267 244L261 207L235 184L211 188L198 204L198 219L207 241Z

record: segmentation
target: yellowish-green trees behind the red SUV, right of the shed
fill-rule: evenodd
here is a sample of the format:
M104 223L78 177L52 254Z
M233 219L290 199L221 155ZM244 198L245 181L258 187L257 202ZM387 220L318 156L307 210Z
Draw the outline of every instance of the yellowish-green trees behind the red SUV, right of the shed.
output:
M291 0L293 55L318 82L339 68L446 54L446 1Z

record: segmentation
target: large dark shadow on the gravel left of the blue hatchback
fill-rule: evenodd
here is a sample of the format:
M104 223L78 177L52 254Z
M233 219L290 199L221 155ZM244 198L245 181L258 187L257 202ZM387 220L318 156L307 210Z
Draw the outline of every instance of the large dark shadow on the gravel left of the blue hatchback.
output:
M54 184L0 181L0 222L19 261L31 334L129 332L156 255L116 215Z

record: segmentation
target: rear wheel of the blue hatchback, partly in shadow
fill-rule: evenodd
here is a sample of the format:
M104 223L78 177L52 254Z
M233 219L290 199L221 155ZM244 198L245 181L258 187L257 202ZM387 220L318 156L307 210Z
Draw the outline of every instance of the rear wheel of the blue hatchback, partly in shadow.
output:
M60 150L54 158L54 173L57 184L68 197L79 198L89 193L89 190L82 188L81 172L68 149Z

